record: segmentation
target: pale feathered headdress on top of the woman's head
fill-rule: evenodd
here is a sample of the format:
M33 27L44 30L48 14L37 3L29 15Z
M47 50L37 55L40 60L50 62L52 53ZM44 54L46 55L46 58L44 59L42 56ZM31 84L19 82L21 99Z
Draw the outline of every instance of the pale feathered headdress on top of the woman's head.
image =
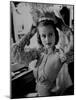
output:
M52 20L54 24L57 23L56 17L63 20L60 14L60 7L48 4L34 4L32 5L32 17L35 22L40 22L42 20ZM59 8L58 8L59 7Z

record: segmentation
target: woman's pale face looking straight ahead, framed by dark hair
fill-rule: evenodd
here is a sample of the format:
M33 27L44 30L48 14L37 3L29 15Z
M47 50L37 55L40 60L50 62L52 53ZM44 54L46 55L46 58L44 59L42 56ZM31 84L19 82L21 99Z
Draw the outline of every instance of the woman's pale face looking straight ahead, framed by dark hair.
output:
M44 47L53 47L55 45L55 30L53 26L41 26L38 29Z

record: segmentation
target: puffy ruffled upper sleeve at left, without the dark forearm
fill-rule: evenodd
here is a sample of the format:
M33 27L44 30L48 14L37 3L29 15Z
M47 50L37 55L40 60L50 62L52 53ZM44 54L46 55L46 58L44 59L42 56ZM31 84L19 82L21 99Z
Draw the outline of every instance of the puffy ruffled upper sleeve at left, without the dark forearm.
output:
M36 48L28 48L21 50L21 48L14 44L11 50L11 56L14 63L26 64L40 57L40 52Z

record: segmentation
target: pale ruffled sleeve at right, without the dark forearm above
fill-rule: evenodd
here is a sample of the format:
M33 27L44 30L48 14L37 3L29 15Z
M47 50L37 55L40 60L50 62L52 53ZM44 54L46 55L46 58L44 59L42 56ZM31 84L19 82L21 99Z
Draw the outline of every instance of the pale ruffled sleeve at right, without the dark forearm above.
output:
M70 63L74 60L73 33L67 26L63 26L62 31L65 36L65 43L62 43L64 46L59 48L59 56L62 62Z

